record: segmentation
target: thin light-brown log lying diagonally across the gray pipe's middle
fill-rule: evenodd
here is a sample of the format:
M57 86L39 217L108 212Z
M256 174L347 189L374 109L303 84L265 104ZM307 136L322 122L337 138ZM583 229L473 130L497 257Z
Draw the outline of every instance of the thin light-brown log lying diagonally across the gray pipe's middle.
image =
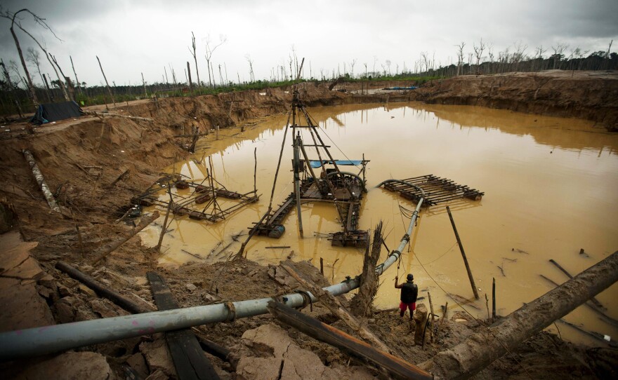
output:
M373 332L369 331L367 327L364 327L364 325L360 323L360 320L357 320L353 315L348 313L346 308L343 307L341 302L336 299L333 294L330 294L329 292L322 290L321 287L313 283L309 283L304 278L301 278L301 276L298 276L298 273L296 273L294 269L291 269L291 267L284 264L281 264L281 267L285 269L292 277L294 277L294 279L298 281L298 283L300 283L302 287L305 287L305 289L309 290L315 297L320 299L320 301L322 301L324 306L326 306L329 311L331 311L331 313L343 320L343 322L346 323L346 325L348 325L357 334L359 334L362 339L371 342L382 351L386 351L388 353L391 352L390 348L388 348L386 344L384 344L378 337L376 337Z

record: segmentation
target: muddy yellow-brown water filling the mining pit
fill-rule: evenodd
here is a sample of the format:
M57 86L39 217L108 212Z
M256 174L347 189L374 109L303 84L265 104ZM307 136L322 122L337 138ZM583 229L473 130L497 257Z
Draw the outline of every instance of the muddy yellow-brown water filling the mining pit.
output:
M408 224L400 206L413 210L414 204L374 188L379 182L433 174L485 192L481 201L450 203L481 296L473 303L475 307L464 305L473 315L487 317L485 294L491 309L492 278L497 282L497 311L507 315L551 290L553 285L539 275L556 283L567 279L549 259L574 275L618 249L618 135L589 121L414 102L309 111L320 123L322 137L336 158L360 159L364 154L371 161L360 228L372 229L382 220L391 250ZM242 233L238 240L244 240L248 228L268 208L286 121L287 115L278 115L263 118L244 132L239 128L221 130L220 140L209 135L200 140L198 147L202 149L191 160L166 168L166 172L174 170L199 181L206 175L211 156L216 180L229 190L246 193L254 188L256 149L256 186L261 199L217 224L195 222L186 216L174 218L172 231L164 239L162 264L195 261L187 252L204 257L204 262L225 260L237 252L240 243L232 236ZM287 140L273 206L293 191L290 135ZM177 193L188 196L190 190ZM222 208L233 204L220 202ZM247 245L247 257L261 264L277 264L292 255L316 266L322 257L325 275L333 283L360 273L362 252L331 247L327 240L328 233L341 229L333 205L303 205L302 217L304 238L298 235L293 210L285 222L284 236L253 238ZM156 245L162 219L142 233L147 245ZM289 248L272 248L285 246ZM584 255L579 254L581 248ZM383 258L387 255L384 251ZM393 281L397 274L402 278L406 273L414 273L420 296L431 293L439 315L438 309L446 301L449 309L460 310L446 293L473 299L445 205L421 212L400 268L391 266L381 277L376 306L398 305ZM618 285L597 298L608 315L618 318ZM421 302L427 304L427 299ZM603 322L585 306L565 320L618 338L617 327ZM565 339L602 344L567 325L558 323L557 327ZM556 327L549 330L556 332Z

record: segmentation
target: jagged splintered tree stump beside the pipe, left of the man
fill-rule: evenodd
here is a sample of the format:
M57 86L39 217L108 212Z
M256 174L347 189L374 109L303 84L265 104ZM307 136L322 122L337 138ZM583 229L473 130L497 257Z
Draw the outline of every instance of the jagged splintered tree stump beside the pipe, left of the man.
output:
M376 292L378 291L378 276L376 275L376 264L380 258L382 247L382 222L379 222L374 231L372 248L369 245L364 252L362 263L362 275L360 277L360 288L358 293L350 301L350 311L354 315L370 317L373 315L372 304Z

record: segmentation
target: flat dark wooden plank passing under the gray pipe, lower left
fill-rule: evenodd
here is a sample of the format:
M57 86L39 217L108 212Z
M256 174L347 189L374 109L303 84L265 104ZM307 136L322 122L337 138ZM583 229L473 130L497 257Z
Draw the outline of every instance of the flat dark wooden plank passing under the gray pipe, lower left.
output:
M152 288L152 297L155 299L159 311L178 308L178 303L173 298L164 279L155 272L148 272L146 276ZM219 379L191 330L166 332L165 338L174 367L176 367L178 379Z

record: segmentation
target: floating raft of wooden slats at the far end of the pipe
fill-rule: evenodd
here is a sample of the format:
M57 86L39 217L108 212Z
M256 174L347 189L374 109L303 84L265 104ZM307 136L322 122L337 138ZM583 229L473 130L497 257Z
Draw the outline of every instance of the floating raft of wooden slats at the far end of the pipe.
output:
M407 182L403 184L402 182ZM384 189L399 193L402 198L418 203L421 199L421 191L412 186L416 185L425 191L423 206L429 207L455 199L468 198L472 201L480 201L485 195L482 191L471 187L457 184L451 179L436 177L435 175L421 175L406 179L390 179L383 182Z

